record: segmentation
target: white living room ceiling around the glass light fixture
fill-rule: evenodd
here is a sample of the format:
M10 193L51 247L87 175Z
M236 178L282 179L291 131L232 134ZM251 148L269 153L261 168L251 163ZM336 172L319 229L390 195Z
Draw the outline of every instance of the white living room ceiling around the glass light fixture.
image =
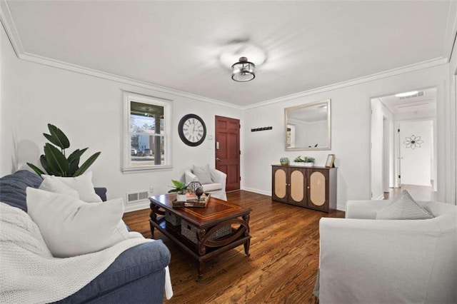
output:
M19 54L237 106L447 59L456 19L452 0L6 4ZM220 63L233 41L266 52L253 81L232 81Z

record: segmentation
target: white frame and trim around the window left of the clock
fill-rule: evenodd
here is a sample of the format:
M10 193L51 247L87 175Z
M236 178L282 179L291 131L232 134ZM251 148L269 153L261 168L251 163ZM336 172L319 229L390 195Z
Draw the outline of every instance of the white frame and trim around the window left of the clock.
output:
M124 127L123 127L123 145L122 145L122 173L134 173L144 171L158 171L158 170L171 170L173 168L172 153L171 153L171 121L173 119L171 100L147 96L144 94L133 93L124 91L123 98L124 102ZM144 165L144 166L132 166L131 165L131 133L130 133L130 111L131 101L140 103L149 103L154 106L164 107L164 165Z

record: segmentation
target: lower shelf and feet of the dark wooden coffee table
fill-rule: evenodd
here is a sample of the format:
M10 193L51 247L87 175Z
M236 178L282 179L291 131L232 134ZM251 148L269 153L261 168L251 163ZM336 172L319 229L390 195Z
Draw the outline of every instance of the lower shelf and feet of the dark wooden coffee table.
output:
M240 222L243 221L232 219L226 222L221 222L217 226L224 226L224 224L230 225L231 223ZM217 240L210 240L208 238L211 236L209 235L209 233L211 233L211 228L208 228L205 230L207 235L202 233L200 239L197 237L196 243L193 243L181 234L180 226L173 226L171 223L166 222L164 216L157 216L156 221L149 219L149 223L151 226L152 238L154 238L154 228L156 228L197 260L199 266L199 276L197 280L200 280L203 275L204 262L206 260L214 258L221 253L238 247L239 245L244 245L244 252L246 255L249 255L251 235L248 235L248 230L246 231L246 227L243 226L240 226L237 229L232 228L231 234Z

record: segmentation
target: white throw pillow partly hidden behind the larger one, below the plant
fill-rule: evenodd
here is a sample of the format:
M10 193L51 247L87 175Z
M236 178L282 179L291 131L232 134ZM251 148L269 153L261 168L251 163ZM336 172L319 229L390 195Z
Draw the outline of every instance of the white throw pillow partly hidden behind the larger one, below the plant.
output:
M91 171L76 177L47 176L46 174L42 174L41 177L44 178L45 181L47 178L61 181L66 186L78 191L81 201L85 201L86 203L101 202L100 196L97 196L94 190Z

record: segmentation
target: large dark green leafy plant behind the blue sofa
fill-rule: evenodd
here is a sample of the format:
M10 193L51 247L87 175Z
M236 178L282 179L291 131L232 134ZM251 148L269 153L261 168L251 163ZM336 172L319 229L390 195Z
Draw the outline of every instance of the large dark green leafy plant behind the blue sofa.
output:
M101 152L94 153L79 166L81 156L88 148L76 149L68 158L65 149L70 147L69 138L61 129L48 123L49 134L43 133L44 137L51 143L44 145L44 154L40 156L41 166L44 171L52 176L80 176L94 161L100 156ZM37 174L45 174L40 168L32 163L27 163Z

